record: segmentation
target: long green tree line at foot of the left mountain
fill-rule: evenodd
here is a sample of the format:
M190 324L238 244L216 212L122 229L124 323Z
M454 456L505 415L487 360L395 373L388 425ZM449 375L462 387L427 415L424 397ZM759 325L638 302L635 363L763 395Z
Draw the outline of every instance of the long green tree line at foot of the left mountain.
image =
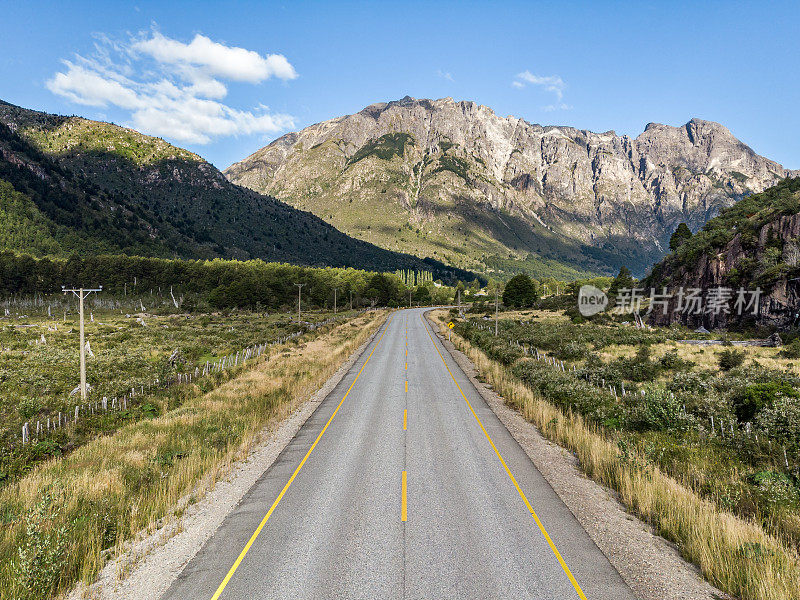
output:
M61 286L97 287L103 292L145 295L187 295L219 309L281 308L297 302L303 284L306 306L404 306L412 300L428 304L449 302L452 289L433 282L406 286L391 273L353 268L303 267L262 260L172 260L124 255L74 254L67 259L34 258L0 252L0 295L52 294ZM191 304L191 303L190 303Z

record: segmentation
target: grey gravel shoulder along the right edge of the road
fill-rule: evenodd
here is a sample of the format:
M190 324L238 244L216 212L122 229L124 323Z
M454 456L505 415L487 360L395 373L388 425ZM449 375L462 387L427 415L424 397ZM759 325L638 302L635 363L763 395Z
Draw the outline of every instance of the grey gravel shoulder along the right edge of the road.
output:
M438 331L438 324L431 323ZM478 373L469 358L447 339L441 335L439 338L637 598L732 600L706 582L699 569L685 561L673 544L627 513L613 491L586 477L571 452L545 439L533 424L477 378Z

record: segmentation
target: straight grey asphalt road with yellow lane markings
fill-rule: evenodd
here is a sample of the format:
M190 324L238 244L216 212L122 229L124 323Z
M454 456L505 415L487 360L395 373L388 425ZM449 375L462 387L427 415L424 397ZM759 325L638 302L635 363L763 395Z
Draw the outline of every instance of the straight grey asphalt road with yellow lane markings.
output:
M634 598L423 312L394 313L164 600Z

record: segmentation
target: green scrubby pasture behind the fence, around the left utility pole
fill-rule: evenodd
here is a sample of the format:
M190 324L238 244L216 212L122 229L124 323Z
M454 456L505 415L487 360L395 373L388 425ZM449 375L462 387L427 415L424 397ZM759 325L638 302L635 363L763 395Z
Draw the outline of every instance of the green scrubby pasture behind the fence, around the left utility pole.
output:
M161 414L182 401L180 390L158 390L140 396L129 410L91 415L78 426L43 435L22 447L22 424L32 431L38 422L53 422L59 412L71 414L78 395L78 321L71 311L53 317L0 318L0 485L19 477L34 464L85 443L98 433L145 416ZM92 316L94 319L92 320ZM307 313L322 321L332 313ZM141 320L140 320L141 319ZM176 372L193 372L206 361L254 344L272 342L300 331L287 314L121 314L93 308L86 315L86 339L94 357L87 357L90 400L121 397L154 380L167 381ZM144 323L144 324L143 324ZM177 350L177 361L170 357ZM214 377L203 382L213 386Z

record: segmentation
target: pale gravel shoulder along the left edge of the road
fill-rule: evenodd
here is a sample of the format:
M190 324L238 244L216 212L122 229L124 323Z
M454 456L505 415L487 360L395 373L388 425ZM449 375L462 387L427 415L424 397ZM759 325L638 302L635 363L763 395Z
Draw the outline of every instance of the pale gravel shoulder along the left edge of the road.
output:
M124 553L105 565L95 583L79 584L67 600L155 600L166 592L380 330L376 329L316 393L294 406L288 417L266 427L261 433L262 443L247 458L235 463L225 477L216 482L206 480L195 494L183 498L177 507L180 516L166 520L155 531L142 532ZM193 503L193 496L202 497Z

